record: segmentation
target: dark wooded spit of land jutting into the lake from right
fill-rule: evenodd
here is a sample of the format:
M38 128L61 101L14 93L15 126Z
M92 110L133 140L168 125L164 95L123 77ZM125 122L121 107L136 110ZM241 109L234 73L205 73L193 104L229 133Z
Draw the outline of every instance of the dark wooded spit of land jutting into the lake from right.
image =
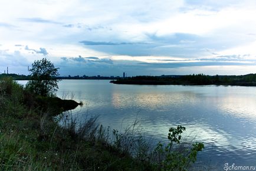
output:
M162 75L136 76L110 81L114 84L145 85L243 85L256 86L256 74L247 75Z

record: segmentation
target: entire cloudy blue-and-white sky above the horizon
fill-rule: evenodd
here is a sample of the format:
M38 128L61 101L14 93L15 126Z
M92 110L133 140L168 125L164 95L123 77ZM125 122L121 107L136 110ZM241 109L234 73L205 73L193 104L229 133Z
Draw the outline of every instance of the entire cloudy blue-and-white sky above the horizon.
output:
M0 72L256 73L256 1L1 0Z

